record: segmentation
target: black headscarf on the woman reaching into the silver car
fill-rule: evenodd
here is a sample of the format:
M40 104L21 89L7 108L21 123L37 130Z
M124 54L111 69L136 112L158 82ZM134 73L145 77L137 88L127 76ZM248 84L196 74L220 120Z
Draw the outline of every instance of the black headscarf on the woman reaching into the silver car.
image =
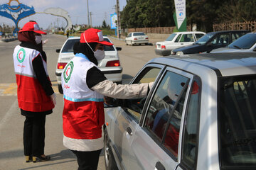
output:
M97 42L89 42L88 44L90 45L90 47L92 47L92 50L95 51ZM95 58L94 52L92 52L90 47L87 45L87 43L75 42L73 46L74 55L77 53L82 53L86 55L90 62L93 62L95 65L97 65L97 59Z

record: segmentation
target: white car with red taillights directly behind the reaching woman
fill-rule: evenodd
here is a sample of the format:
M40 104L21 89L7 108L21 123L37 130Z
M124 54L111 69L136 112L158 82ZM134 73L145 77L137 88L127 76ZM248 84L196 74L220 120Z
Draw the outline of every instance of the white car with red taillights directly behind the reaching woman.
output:
M103 36L105 41L111 42L107 36ZM61 73L65 65L75 56L73 54L73 46L75 42L80 41L80 37L68 38L61 47L61 49L57 49L56 52L59 52L58 62L56 66L55 75L58 81L58 90L60 94L63 94L63 89L61 87ZM122 50L121 47L112 46L104 46L105 50L105 58L103 60L98 61L98 68L105 74L107 79L110 79L117 84L122 84L122 67L119 61L118 52Z

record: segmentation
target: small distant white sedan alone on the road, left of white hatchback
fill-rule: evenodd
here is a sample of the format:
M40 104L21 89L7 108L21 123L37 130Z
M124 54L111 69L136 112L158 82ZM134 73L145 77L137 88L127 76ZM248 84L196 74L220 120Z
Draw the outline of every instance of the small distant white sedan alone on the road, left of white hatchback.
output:
M127 35L125 43L126 45L147 45L149 43L149 37L143 32L133 32Z

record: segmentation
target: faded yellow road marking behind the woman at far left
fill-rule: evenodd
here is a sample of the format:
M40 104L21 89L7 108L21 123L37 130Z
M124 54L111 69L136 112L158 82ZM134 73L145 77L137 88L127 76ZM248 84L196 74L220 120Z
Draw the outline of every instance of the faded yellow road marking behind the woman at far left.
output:
M58 92L58 83L56 81L52 82L53 91L55 94L59 94ZM0 84L0 96L17 96L17 84Z

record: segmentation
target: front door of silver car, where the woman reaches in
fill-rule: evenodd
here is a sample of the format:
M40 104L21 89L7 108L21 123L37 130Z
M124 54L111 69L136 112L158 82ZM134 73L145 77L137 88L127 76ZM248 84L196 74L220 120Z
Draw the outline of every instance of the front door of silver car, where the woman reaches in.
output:
M132 84L149 83L155 81L159 77L159 73L164 66L159 64L147 64L137 77L132 80ZM117 154L117 159L120 162L122 169L129 168L129 149L131 148L132 135L142 117L142 108L145 98L127 99L124 100L124 106L118 108L105 108L106 120L110 123L108 134ZM114 121L111 120L111 118Z

